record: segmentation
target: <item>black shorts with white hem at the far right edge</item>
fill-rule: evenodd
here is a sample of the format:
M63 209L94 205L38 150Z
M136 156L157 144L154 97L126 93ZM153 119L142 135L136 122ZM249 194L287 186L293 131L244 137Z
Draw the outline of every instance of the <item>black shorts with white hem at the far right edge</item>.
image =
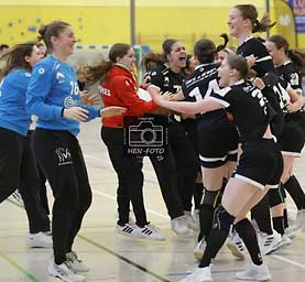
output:
M303 112L286 115L283 131L279 138L282 154L299 156L305 142L305 117Z

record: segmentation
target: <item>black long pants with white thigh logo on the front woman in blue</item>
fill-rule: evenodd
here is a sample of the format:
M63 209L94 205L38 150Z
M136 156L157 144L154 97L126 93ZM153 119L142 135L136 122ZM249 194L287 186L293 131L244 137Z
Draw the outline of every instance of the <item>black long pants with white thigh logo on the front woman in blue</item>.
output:
M53 250L55 263L61 264L72 251L84 215L91 204L87 169L78 141L68 131L36 128L33 147L54 195Z

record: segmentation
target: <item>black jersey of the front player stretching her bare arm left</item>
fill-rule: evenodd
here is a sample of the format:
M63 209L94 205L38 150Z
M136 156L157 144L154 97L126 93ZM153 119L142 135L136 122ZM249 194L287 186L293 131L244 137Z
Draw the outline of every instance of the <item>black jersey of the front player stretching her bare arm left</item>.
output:
M274 117L266 98L250 82L240 80L213 94L211 98L226 108L229 107L228 111L233 115L241 142L261 139Z

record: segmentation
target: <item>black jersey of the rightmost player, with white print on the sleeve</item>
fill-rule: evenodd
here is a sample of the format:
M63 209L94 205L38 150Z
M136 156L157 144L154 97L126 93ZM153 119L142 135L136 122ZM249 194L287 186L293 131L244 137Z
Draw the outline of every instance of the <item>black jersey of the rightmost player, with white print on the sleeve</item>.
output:
M280 77L290 83L293 89L302 93L299 74L291 61L287 61L283 65L275 67L275 72Z

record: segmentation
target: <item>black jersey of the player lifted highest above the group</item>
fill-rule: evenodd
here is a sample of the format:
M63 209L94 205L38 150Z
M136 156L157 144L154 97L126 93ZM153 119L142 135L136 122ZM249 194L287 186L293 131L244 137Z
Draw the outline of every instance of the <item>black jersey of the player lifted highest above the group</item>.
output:
M272 57L266 47L260 40L253 36L246 39L241 45L238 46L237 54L246 58L251 55L255 57L255 65L252 68L257 72L258 77L262 77L269 72L275 72Z

